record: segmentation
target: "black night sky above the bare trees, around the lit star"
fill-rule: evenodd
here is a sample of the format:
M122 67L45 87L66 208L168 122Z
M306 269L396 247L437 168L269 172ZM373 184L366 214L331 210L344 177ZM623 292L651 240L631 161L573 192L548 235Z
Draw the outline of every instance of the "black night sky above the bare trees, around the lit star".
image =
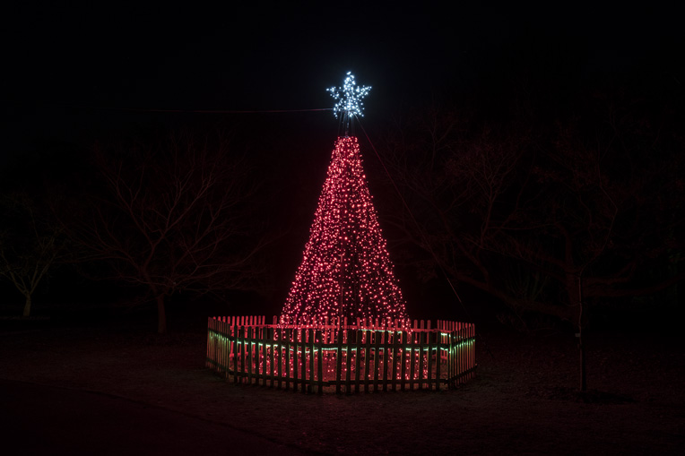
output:
M264 111L331 108L325 89L351 71L373 87L363 119L372 141L401 109L436 99L472 99L468 109L497 112L521 90L545 99L554 116L588 86L681 93L685 43L680 15L654 3L619 10L55 2L5 10L2 29L0 168L39 163L51 150L58 173L70 159L54 151L88 151L151 126L238 125L255 138L256 153L308 167L272 183L299 192L293 253L307 237L338 125L328 111ZM274 147L281 137L288 143Z

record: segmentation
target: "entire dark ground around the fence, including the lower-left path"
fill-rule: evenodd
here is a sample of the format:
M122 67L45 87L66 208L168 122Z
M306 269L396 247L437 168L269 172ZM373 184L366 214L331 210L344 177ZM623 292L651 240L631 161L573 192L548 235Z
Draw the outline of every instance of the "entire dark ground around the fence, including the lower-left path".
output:
M589 333L584 396L572 337L506 329L481 332L477 376L456 390L316 396L226 383L200 324L151 330L0 331L4 449L102 453L102 434L111 454L685 454L681 337Z

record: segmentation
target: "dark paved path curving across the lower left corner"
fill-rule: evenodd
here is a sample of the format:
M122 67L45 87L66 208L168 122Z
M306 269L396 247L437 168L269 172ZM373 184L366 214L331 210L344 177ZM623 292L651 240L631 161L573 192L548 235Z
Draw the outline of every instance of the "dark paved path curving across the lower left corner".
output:
M169 409L90 391L2 379L0 442L0 453L6 456L309 454Z

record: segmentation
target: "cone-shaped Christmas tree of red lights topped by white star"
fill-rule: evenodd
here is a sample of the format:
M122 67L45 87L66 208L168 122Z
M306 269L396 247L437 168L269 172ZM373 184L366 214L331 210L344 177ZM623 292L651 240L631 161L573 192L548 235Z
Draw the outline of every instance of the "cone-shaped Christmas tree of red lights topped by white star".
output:
M378 225L357 138L349 136L353 116L369 87L356 87L348 73L342 93L329 89L342 113L345 135L335 142L314 223L283 306L282 323L323 322L326 317L405 319L402 290L393 272L386 239Z

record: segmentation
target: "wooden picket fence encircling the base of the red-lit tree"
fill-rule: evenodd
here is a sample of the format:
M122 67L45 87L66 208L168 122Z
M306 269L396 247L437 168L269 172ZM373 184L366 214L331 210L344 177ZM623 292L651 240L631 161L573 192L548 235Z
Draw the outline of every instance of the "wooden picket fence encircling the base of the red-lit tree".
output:
M234 383L302 392L439 391L473 377L474 342L473 323L211 317L206 366Z

